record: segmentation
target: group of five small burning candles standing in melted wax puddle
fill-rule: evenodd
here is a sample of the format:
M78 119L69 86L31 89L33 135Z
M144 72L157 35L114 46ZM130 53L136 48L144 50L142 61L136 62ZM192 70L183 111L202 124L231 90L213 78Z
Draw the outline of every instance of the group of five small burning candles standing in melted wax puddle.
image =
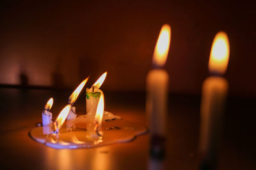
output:
M89 120L87 126L88 138L93 138L95 134L95 139L100 137L99 127L102 122L102 117L104 113L104 94L99 89L105 80L107 72L102 74L100 78L92 85L92 88L86 89L87 96L87 118ZM89 78L86 78L84 81L80 83L76 90L70 95L68 98L68 104L61 110L60 114L52 122L52 113L50 112L53 99L49 99L47 104L45 104L45 109L42 112L42 125L44 127L44 134L50 133L58 133L61 125L65 122L65 120L72 120L77 117L76 115L76 107L74 107L74 103L76 102L77 97L79 96L81 90L83 90L84 85Z

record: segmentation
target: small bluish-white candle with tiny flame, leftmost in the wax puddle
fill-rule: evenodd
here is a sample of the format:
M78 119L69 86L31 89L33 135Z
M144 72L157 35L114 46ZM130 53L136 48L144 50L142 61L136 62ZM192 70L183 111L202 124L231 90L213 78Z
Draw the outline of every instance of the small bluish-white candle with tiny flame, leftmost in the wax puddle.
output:
M44 106L44 111L42 112L42 124L43 126L49 126L52 124L52 113L50 112L53 104L53 98L49 99Z

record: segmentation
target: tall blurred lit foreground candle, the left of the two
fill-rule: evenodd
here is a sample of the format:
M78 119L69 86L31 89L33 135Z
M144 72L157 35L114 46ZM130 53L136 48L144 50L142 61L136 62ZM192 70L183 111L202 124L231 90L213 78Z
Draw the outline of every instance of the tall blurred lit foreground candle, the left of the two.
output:
M168 73L162 69L170 47L171 27L163 25L153 55L153 66L147 75L147 115L150 128L150 154L164 156L166 134L166 110L168 97Z

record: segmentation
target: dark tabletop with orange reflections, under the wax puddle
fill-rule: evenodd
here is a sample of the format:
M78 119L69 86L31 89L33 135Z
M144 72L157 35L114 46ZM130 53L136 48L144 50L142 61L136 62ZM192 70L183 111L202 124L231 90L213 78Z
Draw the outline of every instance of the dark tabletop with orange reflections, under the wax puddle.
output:
M148 169L148 134L129 143L99 148L57 150L33 141L28 133L41 122L44 104L54 97L53 118L67 104L69 90L0 89L1 167L8 169ZM85 111L85 94L76 102ZM147 125L145 94L106 92L106 110ZM255 99L230 98L224 118L218 169L256 169ZM170 95L166 158L159 169L198 169L200 97ZM253 113L254 112L254 113ZM153 168L153 167L152 167Z

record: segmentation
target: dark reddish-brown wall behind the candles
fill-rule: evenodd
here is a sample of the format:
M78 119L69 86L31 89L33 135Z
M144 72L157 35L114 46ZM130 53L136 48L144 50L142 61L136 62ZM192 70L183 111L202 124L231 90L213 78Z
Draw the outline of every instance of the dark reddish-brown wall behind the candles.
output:
M255 6L247 1L1 1L0 84L140 91L161 25L172 26L170 92L200 94L218 31L230 39L230 94L256 95ZM21 76L20 76L21 74Z

